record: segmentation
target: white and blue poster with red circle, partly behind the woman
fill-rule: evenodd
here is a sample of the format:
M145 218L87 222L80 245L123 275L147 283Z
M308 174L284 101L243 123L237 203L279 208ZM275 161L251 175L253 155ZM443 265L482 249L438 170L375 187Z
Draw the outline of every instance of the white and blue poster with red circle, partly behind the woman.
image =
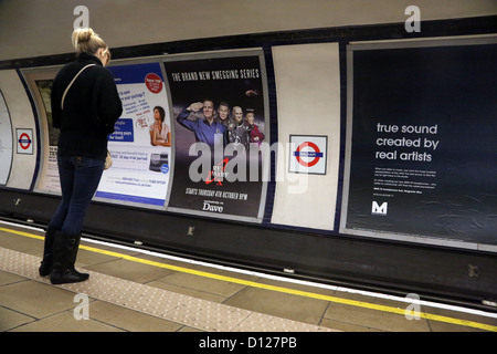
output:
M108 136L113 166L96 197L165 206L171 175L171 121L160 63L108 67L123 101L123 116Z

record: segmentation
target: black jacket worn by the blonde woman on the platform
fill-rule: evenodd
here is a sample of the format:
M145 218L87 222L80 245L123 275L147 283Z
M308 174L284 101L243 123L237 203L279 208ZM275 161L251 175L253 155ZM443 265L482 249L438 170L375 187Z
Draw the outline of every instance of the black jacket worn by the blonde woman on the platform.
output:
M62 95L74 76L87 64L67 91L64 110ZM107 135L123 113L114 77L95 55L81 53L77 60L65 65L52 85L52 122L61 129L59 156L86 156L105 159Z

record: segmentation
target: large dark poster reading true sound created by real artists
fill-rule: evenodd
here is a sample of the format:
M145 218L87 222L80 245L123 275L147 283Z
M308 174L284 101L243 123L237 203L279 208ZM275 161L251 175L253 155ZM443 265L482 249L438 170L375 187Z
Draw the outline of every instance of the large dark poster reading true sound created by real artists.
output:
M497 44L457 44L349 49L345 231L497 244Z

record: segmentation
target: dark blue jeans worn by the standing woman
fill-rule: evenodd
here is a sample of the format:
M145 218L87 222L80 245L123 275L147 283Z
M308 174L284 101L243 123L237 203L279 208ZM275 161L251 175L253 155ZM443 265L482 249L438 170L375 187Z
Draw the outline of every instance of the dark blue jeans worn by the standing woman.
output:
M101 181L105 160L60 156L57 164L62 201L50 225L64 235L78 236L86 210Z

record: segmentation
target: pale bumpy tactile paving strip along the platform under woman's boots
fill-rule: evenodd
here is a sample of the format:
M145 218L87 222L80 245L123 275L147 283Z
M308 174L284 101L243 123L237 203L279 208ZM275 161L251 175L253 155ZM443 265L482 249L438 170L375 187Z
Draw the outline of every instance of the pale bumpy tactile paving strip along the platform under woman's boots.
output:
M41 258L0 248L0 270L50 284L40 277ZM208 332L320 332L317 325L255 313L87 271L89 280L54 285L130 310Z

